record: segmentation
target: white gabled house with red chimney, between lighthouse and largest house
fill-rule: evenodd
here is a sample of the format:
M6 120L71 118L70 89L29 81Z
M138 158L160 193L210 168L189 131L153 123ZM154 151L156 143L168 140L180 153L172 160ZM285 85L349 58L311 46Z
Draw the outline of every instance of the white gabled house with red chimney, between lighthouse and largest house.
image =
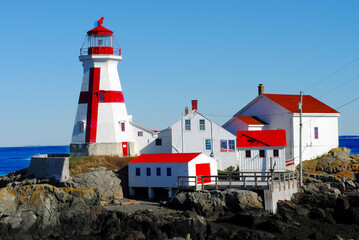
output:
M217 161L218 169L225 170L237 167L235 143L236 135L200 113L198 101L192 100L192 111L160 131L141 154L202 152Z

